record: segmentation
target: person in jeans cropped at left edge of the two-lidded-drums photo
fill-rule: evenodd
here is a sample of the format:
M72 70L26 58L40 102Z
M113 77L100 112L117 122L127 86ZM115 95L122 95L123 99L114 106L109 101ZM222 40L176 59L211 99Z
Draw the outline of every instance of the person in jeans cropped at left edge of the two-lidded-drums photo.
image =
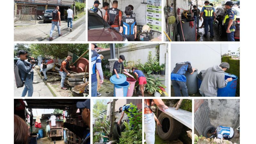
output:
M100 55L94 51L94 48L97 48L98 46L96 44L92 44L91 45L92 47L92 64L91 64L91 74L92 74L92 77L91 77L91 81L92 81L92 92L91 92L91 95L92 97L97 97L97 96L100 96L101 94L97 92L97 72L99 73L100 75L100 84L103 83L103 71L102 71L102 68L101 68L101 59L100 59ZM97 94L98 93L98 94Z

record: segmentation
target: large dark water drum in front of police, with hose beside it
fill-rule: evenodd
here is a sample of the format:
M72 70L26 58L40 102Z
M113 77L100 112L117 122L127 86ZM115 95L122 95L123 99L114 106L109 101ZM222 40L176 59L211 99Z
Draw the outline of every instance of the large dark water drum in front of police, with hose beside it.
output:
M181 42L184 41L182 31L183 31L184 38L185 38L186 42L187 41L191 41L191 42L196 41L196 22L195 22L195 20L193 21L193 23L194 23L194 26L193 26L193 28L191 28L191 26L189 26L189 20L187 20L187 19L181 20L182 30L180 27L180 22L178 23L178 33L180 34Z

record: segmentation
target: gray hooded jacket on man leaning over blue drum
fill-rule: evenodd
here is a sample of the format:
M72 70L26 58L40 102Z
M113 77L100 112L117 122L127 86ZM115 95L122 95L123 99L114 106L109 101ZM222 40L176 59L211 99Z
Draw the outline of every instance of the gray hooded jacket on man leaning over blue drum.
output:
M208 68L202 73L202 84L200 91L210 97L216 97L218 88L226 87L228 80L225 80L225 74L222 68L218 65Z

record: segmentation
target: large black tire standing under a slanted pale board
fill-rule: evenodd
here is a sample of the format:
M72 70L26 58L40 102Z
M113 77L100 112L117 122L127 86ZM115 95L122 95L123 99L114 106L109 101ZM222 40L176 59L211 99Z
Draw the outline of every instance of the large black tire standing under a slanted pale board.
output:
M158 117L161 126L157 126L156 131L158 136L163 140L175 140L180 136L183 124L171 116L161 113Z

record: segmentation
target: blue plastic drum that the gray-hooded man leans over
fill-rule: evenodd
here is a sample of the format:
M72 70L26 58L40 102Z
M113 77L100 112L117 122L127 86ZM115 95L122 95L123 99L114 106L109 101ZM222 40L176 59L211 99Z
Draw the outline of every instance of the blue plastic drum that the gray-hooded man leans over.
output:
M238 77L236 75L225 73L225 80L227 78L232 77L232 81L228 82L227 86L221 89L218 89L217 96L218 97L235 97L236 96L236 84ZM197 76L197 86L198 89L202 84L202 80Z

